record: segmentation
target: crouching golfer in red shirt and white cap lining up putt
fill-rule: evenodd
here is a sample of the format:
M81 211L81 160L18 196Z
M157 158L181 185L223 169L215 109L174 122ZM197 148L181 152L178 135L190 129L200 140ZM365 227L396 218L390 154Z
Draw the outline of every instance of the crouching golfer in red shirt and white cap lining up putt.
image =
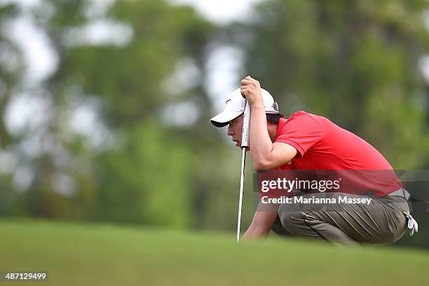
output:
M339 187L328 191L284 188L285 196L279 196L280 184L260 190L244 239L264 238L272 230L336 245L389 244L401 238L407 226L410 234L417 231L409 213L409 193L379 151L325 117L298 111L285 119L270 93L250 76L229 95L224 111L210 120L217 127L229 125L228 135L236 146L241 146L245 100L250 104L249 151L254 170L338 170L343 177L354 172L359 187L338 181ZM383 170L384 175L374 175L372 170Z

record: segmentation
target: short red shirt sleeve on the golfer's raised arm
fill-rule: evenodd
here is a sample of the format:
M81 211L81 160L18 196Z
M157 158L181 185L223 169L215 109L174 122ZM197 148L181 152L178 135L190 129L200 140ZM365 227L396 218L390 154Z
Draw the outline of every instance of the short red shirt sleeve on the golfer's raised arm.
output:
M297 112L282 126L280 135L275 142L283 142L297 149L299 155L304 156L306 151L323 139L323 130L320 124L310 114Z

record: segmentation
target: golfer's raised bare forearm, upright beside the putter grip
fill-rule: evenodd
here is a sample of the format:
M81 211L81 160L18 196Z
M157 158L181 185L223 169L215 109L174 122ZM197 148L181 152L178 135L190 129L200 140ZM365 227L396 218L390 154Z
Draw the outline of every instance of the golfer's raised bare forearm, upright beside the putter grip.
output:
M254 169L264 169L270 161L273 142L266 128L266 115L263 104L251 106L250 116L250 152L252 153Z

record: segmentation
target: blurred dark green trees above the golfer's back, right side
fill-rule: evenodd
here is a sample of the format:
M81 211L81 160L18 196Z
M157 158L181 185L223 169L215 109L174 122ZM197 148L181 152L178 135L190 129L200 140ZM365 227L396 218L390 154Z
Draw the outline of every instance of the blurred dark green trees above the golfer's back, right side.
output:
M428 156L428 94L418 61L428 50L423 0L264 1L229 43L286 114L327 116L379 149L394 168Z

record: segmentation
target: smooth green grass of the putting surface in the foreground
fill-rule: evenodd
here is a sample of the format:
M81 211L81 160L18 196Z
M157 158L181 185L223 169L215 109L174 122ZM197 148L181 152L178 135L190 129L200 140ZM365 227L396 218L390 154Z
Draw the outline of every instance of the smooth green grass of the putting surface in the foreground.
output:
M18 221L0 238L0 271L48 271L36 285L429 285L423 250Z

